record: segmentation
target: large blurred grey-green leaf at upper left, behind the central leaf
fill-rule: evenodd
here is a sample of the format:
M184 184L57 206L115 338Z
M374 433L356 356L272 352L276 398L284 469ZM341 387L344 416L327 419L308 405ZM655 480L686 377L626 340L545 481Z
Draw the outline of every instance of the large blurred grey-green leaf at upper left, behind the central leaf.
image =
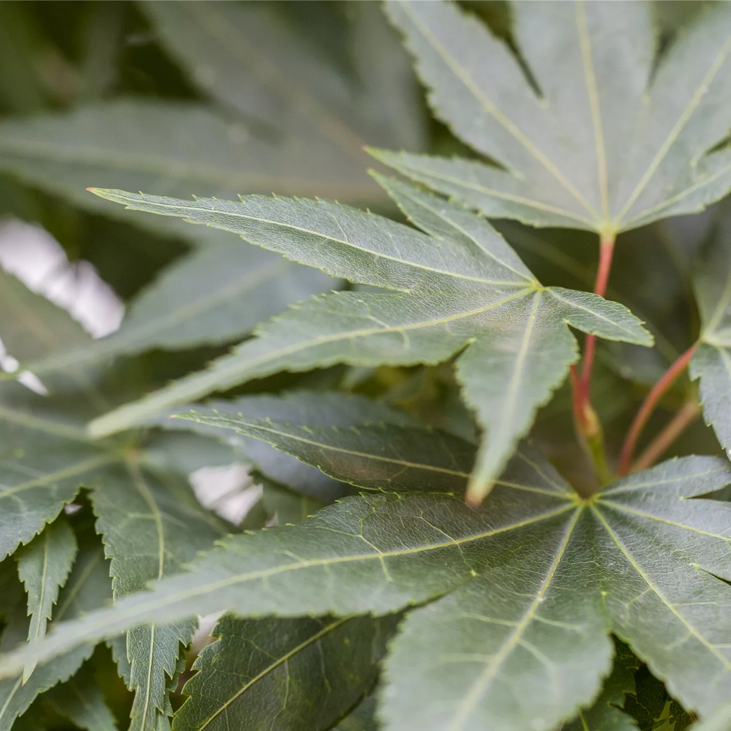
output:
M0 169L77 205L101 205L105 213L114 211L84 196L87 186L164 186L170 195L205 189L227 197L277 191L363 202L379 197L365 173L364 144L422 145L413 76L375 4L357 3L367 7L357 7L353 19L354 65L374 77L365 84L328 64L270 4L140 5L193 83L223 109L113 99L70 113L10 118L0 124ZM382 67L387 59L392 63ZM377 102L371 86L377 87ZM385 113L387 99L398 99L398 105ZM201 230L181 233L177 221L140 216L137 222L195 240L211 238Z

